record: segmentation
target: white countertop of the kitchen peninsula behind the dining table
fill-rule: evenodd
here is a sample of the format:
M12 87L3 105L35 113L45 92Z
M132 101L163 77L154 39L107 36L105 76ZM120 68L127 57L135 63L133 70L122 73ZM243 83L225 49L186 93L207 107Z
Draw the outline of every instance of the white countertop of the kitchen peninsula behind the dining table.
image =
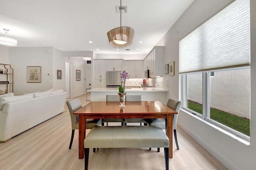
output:
M118 87L116 88L94 88L90 90L91 92L100 92L100 91L115 91L118 93ZM125 88L126 92L129 91L168 91L168 89L161 89L158 87L141 87L141 88Z

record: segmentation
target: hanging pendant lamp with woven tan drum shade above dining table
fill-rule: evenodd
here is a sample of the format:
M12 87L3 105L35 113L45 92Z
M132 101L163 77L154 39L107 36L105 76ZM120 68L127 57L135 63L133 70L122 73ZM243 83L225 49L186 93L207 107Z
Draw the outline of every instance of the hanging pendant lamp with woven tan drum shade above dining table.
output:
M122 0L120 0L120 9L122 9ZM120 12L120 27L110 30L107 35L112 47L123 48L132 44L134 30L131 27L122 27L122 12Z

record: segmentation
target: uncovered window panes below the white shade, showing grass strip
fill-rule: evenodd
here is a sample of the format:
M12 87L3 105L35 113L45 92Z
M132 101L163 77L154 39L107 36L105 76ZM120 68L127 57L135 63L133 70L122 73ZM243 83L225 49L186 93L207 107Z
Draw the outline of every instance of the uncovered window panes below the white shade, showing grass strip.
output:
M183 109L229 131L250 136L250 67L181 76Z

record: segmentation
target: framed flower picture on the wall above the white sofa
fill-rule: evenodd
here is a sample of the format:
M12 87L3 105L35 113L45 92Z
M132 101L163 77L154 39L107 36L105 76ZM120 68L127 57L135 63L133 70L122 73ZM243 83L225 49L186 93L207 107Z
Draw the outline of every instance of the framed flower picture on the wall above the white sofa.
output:
M27 66L27 83L41 83L41 66Z

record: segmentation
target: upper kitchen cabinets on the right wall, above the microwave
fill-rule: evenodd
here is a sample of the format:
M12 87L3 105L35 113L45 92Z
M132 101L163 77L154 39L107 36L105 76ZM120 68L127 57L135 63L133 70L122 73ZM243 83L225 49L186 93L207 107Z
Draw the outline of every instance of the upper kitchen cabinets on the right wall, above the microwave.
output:
M144 59L144 69L149 76L164 76L164 46L155 46Z

